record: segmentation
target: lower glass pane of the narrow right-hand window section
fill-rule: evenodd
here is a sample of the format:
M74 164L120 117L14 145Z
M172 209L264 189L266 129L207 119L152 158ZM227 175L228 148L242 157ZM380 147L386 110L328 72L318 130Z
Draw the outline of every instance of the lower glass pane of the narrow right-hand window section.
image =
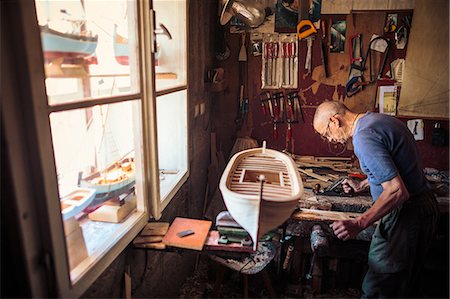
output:
M186 90L156 99L161 200L187 172L186 99Z

